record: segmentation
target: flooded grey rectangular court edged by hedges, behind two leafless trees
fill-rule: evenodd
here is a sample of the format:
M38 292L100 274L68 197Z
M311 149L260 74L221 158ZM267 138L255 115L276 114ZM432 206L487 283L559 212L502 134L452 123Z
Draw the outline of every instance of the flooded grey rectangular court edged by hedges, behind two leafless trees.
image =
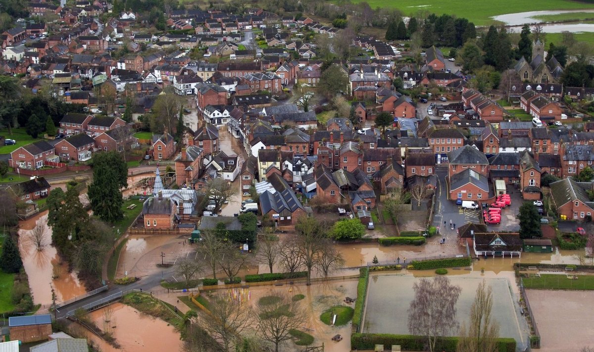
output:
M476 288L481 278L450 276L451 284L462 287L456 304L457 319L467 322L470 306L475 299ZM363 332L377 334L409 334L408 312L410 302L415 298L413 284L419 280L405 275L370 275L365 304ZM527 341L523 332L526 322L519 315L519 307L511 297L507 279L487 279L493 288L493 317L500 323L500 337L516 339L518 345ZM455 334L454 334L455 335Z

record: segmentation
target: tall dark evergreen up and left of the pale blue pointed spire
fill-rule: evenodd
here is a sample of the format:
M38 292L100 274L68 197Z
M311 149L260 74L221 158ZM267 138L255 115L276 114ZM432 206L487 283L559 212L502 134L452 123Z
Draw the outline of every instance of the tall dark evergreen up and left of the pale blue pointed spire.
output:
M97 153L93 157L93 183L89 199L95 215L113 223L124 216L121 188L128 186L128 165L117 152Z

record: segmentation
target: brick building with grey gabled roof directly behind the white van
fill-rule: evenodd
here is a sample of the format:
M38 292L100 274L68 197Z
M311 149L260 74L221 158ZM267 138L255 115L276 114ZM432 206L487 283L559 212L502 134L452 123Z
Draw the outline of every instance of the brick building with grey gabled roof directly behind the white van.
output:
M450 199L481 200L489 199L488 179L472 169L464 169L450 177Z

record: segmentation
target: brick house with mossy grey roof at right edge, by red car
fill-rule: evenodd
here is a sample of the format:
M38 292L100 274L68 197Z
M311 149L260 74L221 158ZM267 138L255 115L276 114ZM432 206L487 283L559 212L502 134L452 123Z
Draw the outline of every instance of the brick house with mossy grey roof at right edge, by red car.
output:
M558 215L565 215L567 219L585 221L586 216L592 217L594 203L586 190L592 188L589 182L577 182L568 177L551 183L551 199L557 208Z

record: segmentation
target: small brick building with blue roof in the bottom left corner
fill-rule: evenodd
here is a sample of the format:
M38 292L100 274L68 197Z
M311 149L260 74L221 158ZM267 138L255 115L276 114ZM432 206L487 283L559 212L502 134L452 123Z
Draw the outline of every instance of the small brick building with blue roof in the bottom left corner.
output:
M52 316L11 316L8 318L8 329L12 341L27 343L48 340L48 336L52 334Z

